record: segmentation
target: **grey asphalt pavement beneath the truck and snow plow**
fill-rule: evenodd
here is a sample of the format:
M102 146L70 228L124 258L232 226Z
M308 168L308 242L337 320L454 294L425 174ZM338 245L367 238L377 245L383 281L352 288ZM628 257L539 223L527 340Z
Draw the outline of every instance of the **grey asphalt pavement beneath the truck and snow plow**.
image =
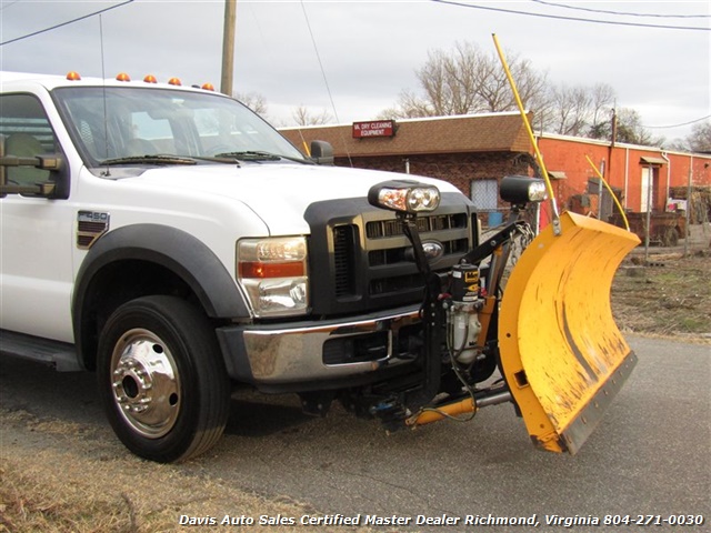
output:
M534 450L510 404L388 434L340 408L314 419L294 398L250 394L233 400L217 447L181 469L300 502L332 524L394 525L382 531L711 531L711 346L628 340L639 363L575 456ZM2 360L0 406L108 425L93 383Z

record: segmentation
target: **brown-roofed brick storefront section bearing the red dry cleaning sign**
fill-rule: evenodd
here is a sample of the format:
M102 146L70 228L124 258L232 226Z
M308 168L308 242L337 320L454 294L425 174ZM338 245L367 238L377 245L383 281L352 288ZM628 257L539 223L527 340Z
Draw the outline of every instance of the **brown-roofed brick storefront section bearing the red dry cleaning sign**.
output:
M392 121L368 124L383 122ZM339 167L439 178L470 198L481 198L488 182L491 198L481 207L490 210L498 205L501 177L529 173L530 142L519 113L399 120L392 130L360 138L351 124L280 131L302 150L312 140L330 142Z

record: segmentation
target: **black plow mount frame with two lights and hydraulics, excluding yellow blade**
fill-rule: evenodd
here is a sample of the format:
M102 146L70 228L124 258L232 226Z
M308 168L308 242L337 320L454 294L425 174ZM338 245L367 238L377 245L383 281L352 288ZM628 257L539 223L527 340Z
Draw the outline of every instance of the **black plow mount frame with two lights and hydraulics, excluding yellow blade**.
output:
M399 411L403 420L393 423L391 415L381 414L389 429L398 429L402 422L407 426L418 426L460 414L471 413L473 416L478 408L512 400L501 380L487 389L475 389L477 376L467 376L462 372L462 366L471 364L478 354L481 358L484 350L490 352L492 360L498 361L495 326L499 286L511 251L511 241L518 234L530 232L528 223L520 220L520 213L529 201L543 199L545 191L540 180L507 177L501 182L501 195L513 205L509 220L489 235L485 242L460 259L459 265L452 269L444 283L448 286L443 286L440 275L431 272L417 224L419 212L437 209L439 191L412 180L379 183L370 190L368 198L371 204L395 211L403 233L412 244L413 260L424 279L421 308L424 336L422 379L397 401L381 404L379 409L401 404L394 410ZM489 263L482 270L480 265L484 260L489 260ZM459 380L459 393L450 390L447 394L441 394L443 362L451 364ZM495 364L484 379L494 369Z

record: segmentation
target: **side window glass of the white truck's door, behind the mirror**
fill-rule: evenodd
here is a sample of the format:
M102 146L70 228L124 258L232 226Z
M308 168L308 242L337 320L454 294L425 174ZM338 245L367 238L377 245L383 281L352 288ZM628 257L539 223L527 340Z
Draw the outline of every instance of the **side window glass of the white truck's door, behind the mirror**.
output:
M57 152L57 141L42 104L30 94L0 97L0 139L6 155L30 158ZM28 185L47 181L48 170L7 167L4 182Z

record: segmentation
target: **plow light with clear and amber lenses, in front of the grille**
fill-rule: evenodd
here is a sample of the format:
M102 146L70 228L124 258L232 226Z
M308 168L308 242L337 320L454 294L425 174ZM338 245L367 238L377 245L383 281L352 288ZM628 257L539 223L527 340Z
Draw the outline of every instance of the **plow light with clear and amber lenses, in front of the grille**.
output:
M404 213L434 211L440 205L440 191L417 181L393 180L373 185L368 191L371 205Z

